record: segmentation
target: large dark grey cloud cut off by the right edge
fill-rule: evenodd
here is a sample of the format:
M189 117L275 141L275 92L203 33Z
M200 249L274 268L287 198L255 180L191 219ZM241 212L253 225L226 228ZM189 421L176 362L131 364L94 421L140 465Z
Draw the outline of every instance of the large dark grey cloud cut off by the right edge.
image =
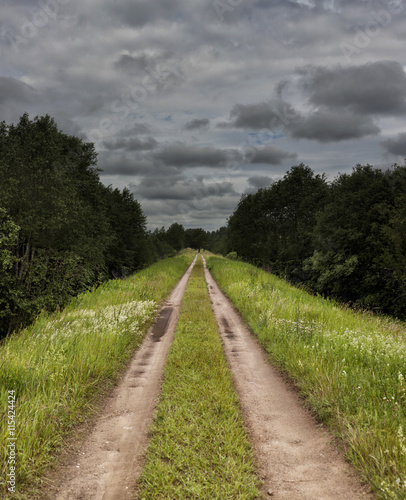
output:
M397 61L377 61L347 68L305 67L301 85L315 106L349 107L363 114L406 112L406 73Z

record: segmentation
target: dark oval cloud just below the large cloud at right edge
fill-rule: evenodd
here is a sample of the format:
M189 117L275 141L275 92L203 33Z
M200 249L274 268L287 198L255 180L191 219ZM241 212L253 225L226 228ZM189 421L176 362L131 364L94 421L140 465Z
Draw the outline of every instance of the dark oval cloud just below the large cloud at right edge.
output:
M295 139L327 143L377 135L380 129L369 116L358 115L346 109L334 112L322 109L292 123L289 131Z

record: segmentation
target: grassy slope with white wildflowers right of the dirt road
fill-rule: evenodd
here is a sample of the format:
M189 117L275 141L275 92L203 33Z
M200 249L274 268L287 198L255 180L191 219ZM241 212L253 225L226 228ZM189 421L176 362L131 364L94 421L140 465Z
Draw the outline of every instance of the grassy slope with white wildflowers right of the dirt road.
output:
M210 257L208 266L378 497L406 498L405 323L341 308L248 264Z

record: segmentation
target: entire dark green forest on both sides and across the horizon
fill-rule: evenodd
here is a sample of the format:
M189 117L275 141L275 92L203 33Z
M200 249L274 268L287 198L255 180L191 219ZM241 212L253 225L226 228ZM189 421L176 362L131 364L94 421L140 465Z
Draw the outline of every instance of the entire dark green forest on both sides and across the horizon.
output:
M294 166L243 195L228 226L148 231L126 188L102 184L92 143L48 115L0 123L0 338L184 247L241 258L313 293L406 319L406 167L333 182Z

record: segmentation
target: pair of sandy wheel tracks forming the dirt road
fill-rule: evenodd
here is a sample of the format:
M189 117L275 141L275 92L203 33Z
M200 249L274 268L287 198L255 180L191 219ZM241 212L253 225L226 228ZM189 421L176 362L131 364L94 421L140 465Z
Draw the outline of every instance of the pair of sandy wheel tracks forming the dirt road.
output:
M69 467L67 480L52 498L134 498L164 364L194 262L161 309L94 431ZM332 436L317 424L304 409L297 392L270 366L211 277L205 262L204 267L224 353L239 396L258 475L263 481L263 497L270 498L272 493L273 498L285 500L373 498L331 443ZM156 498L166 498L165 488L157 495ZM240 498L238 491L233 498Z

